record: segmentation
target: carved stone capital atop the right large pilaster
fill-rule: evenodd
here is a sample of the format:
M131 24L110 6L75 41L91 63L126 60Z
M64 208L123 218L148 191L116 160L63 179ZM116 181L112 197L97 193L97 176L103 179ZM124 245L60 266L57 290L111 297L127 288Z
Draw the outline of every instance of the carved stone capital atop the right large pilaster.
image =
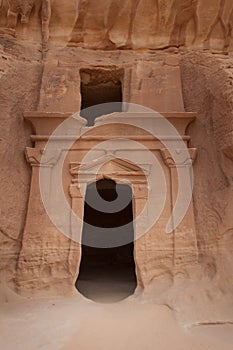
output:
M174 152L176 159L173 159L168 149L160 150L163 161L168 167L191 166L197 156L196 148L176 149Z

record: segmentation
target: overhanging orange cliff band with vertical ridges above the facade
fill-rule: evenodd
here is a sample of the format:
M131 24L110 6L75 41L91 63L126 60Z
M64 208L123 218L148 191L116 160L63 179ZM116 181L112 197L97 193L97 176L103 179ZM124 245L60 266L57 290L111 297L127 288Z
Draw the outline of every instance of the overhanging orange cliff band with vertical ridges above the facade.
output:
M2 0L0 32L95 49L232 48L231 0Z

